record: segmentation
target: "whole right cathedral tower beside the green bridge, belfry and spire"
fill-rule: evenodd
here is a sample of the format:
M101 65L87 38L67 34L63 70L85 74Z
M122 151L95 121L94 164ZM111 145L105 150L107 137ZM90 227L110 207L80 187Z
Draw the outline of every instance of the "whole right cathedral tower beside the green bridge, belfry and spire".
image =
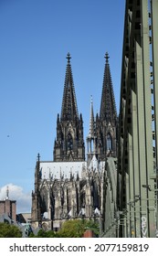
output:
M100 116L96 116L97 152L99 159L105 160L106 156L116 156L117 151L117 112L111 81L109 55L105 54L105 69L100 102Z

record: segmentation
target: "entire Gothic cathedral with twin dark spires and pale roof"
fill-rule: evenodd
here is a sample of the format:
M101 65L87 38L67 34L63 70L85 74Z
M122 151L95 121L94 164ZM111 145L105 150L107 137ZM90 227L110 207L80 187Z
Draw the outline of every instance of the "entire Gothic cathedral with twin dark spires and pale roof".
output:
M109 55L105 54L100 113L96 116L92 99L90 102L86 146L70 59L68 53L53 161L41 161L37 156L31 211L35 228L58 230L67 219L100 219L104 208L106 162L108 157L117 154L118 120Z

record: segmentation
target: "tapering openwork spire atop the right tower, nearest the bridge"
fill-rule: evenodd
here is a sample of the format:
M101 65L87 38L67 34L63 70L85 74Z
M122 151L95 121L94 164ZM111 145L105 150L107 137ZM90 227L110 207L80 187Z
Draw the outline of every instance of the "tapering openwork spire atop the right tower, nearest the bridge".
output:
M117 119L116 104L111 81L111 69L109 64L109 54L106 52L105 69L102 85L102 95L100 103L100 120L106 120L107 123L115 123Z

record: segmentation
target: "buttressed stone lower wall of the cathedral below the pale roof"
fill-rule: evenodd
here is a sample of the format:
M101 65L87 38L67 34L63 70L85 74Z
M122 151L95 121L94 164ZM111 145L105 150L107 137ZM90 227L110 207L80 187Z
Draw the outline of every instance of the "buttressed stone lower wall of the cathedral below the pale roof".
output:
M97 161L94 159L92 161ZM91 161L91 163L92 163ZM49 163L52 168L52 163ZM61 165L61 172L65 163ZM64 164L64 165L62 165ZM104 163L98 168L87 168L86 162L82 163L81 176L70 173L68 177L61 175L60 178L37 177L36 193L33 193L32 220L36 226L41 223L45 229L60 229L66 219L94 219L100 217L102 206L102 180ZM43 163L37 162L36 176L40 173ZM51 174L51 169L50 169ZM37 196L38 195L38 196ZM35 226L35 227L36 227Z

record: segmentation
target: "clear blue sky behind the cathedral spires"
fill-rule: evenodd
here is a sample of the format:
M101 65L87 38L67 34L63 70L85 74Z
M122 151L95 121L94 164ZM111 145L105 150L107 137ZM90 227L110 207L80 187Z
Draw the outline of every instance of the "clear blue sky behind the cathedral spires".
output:
M37 153L53 160L68 51L84 136L90 95L94 112L100 111L106 51L119 112L124 5L125 0L0 0L1 188L12 183L30 193Z

